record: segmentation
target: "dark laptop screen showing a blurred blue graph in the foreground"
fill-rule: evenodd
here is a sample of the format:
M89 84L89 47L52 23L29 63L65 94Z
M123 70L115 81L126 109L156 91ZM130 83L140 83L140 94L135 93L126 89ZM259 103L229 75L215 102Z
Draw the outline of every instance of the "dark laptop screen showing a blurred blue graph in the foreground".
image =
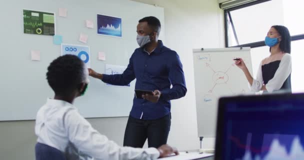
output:
M219 99L215 159L304 159L304 94Z

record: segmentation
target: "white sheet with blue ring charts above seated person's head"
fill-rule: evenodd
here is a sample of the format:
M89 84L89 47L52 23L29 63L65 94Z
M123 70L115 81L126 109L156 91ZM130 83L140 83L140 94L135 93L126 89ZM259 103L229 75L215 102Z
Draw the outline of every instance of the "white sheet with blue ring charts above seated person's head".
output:
M61 44L61 55L65 54L76 55L85 63L87 68L91 67L89 46L76 44Z

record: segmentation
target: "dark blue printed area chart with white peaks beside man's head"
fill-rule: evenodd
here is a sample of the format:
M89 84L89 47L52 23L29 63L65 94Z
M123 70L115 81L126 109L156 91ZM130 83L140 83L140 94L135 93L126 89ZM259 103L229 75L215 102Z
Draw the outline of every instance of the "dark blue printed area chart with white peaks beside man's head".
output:
M121 18L97 14L97 34L121 37Z

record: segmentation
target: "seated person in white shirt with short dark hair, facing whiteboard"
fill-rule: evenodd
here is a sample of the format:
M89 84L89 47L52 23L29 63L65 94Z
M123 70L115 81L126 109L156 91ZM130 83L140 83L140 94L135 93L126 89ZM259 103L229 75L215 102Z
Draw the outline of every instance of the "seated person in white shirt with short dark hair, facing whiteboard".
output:
M88 85L88 70L75 55L63 55L47 67L46 79L55 96L38 110L37 142L54 147L67 159L156 159L178 154L171 146L158 148L120 147L95 130L73 106Z

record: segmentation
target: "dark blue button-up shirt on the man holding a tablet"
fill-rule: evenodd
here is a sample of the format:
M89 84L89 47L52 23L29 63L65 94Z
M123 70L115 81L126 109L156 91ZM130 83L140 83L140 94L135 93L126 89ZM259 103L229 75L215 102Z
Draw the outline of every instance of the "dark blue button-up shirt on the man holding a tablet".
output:
M135 78L135 89L161 92L156 103L134 96L130 115L137 119L157 119L169 114L170 100L184 96L187 91L178 54L165 47L161 40L150 54L142 47L136 48L122 74L103 74L102 81L127 85Z

